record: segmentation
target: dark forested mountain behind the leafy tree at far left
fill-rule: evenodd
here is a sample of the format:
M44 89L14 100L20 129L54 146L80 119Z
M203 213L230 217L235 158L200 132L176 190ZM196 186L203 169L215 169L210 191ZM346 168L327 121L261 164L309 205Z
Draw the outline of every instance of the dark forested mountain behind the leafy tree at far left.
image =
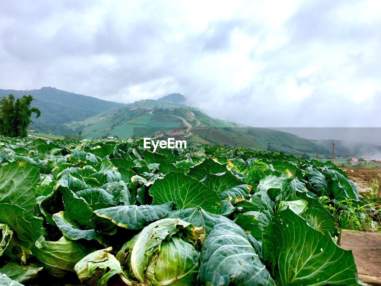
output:
M74 132L60 124L74 120L80 121L102 111L123 106L122 103L66 92L53 87L42 87L34 90L0 89L0 97L9 94L13 94L15 98L20 98L22 95L32 95L36 100L33 101L32 106L40 109L41 116L37 119L32 118L33 125L30 128L38 129L41 132L49 131L58 135Z

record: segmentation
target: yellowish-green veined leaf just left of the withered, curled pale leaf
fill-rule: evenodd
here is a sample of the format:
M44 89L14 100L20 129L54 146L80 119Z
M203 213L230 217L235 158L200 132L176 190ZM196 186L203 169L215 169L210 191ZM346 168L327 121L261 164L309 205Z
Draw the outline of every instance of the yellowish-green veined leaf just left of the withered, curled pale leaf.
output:
M53 276L64 277L74 271L74 265L94 249L62 236L58 241L46 241L45 246L34 248L32 253Z

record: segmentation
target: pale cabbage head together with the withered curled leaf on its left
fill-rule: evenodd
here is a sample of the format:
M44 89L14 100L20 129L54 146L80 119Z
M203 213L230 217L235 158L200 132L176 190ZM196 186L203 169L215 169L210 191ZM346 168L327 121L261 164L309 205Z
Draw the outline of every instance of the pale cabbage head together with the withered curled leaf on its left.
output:
M127 241L116 257L111 247L75 265L81 282L105 285L114 274L127 285L192 285L199 272L203 228L179 219L161 219Z

